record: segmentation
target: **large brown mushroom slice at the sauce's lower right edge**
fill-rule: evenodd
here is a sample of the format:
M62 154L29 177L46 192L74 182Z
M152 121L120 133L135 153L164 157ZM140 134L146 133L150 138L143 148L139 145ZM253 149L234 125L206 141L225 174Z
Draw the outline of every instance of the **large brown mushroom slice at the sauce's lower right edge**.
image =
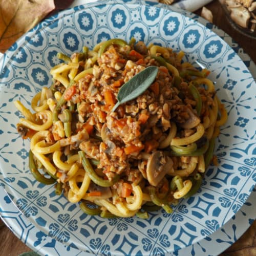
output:
M152 186L157 186L173 166L173 160L162 151L154 152L147 161L146 176Z

